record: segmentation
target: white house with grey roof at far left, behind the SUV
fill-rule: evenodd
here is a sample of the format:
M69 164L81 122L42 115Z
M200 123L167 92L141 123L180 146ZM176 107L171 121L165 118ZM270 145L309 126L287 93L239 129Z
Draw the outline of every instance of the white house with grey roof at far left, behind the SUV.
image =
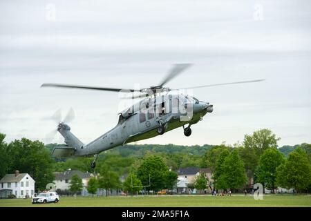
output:
M28 173L7 174L0 180L0 198L14 194L17 198L32 198L35 195L35 180Z

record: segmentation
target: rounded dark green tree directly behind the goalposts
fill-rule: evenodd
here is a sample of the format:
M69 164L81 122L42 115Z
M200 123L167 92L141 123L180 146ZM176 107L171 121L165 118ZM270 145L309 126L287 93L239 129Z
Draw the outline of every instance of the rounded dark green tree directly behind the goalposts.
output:
M138 168L138 179L142 181L142 185L149 185L149 175L151 186L149 190L159 191L164 189L166 182L166 173L169 171L167 165L164 164L161 157L153 156L147 157Z

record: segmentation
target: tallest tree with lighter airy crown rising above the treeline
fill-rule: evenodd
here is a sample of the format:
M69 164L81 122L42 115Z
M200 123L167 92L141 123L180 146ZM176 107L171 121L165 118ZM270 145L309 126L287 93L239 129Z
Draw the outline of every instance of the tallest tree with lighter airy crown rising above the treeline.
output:
M277 148L277 138L269 129L255 131L252 135L245 135L243 146L239 148L239 154L245 164L247 177L254 176L258 166L259 157L267 148Z

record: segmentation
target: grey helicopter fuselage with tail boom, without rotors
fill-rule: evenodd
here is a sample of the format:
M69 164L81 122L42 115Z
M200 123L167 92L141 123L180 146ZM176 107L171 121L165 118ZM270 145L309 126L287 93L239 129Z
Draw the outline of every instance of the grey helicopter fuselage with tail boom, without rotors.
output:
M190 128L212 111L212 105L191 96L162 95L142 99L124 110L117 126L89 144L82 144L66 124L59 126L59 133L65 137L67 147L73 150L70 155L91 156L116 146L156 137L160 135L159 127L164 129L162 133L181 126L185 130L186 124Z

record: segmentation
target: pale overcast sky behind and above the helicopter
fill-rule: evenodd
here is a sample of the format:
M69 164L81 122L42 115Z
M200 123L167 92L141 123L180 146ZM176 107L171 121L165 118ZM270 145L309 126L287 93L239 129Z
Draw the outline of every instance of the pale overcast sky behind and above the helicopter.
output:
M311 143L311 1L0 1L0 133L46 139L55 111L91 142L126 108L118 93L40 88L158 84L172 64L194 64L170 88L265 79L189 91L214 104L202 122L139 144L234 144L270 128L279 146Z

